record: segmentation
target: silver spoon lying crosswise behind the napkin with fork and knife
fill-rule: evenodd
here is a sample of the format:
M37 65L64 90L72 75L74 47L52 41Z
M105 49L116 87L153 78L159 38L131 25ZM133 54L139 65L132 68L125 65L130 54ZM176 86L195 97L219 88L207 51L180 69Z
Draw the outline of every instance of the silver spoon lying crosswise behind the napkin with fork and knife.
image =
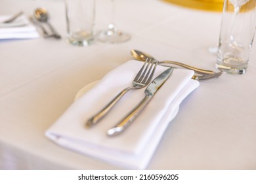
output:
M146 58L153 58L149 54L146 54L144 52L140 52L139 50L131 50L131 56L133 56L133 58L135 58L135 59L138 59L139 61L145 61ZM161 63L169 63L169 64L173 64L173 65L179 65L179 66L184 67L186 69L194 70L196 73L200 73L200 74L214 74L215 73L214 71L199 69L197 67L186 65L184 63L180 63L180 62L177 62L177 61L159 61L158 63L160 63L160 64Z

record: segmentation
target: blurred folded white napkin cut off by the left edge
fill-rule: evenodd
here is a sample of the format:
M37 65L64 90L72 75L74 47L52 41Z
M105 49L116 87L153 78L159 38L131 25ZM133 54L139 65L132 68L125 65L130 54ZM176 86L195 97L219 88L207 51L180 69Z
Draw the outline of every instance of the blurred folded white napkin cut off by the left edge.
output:
M10 16L0 16L0 22ZM36 27L24 15L14 22L0 23L0 39L35 39L39 37Z

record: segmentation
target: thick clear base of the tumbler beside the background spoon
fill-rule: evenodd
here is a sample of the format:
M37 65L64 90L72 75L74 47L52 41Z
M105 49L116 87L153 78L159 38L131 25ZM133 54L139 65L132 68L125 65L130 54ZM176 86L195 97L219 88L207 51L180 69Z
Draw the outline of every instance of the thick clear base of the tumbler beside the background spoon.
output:
M94 41L94 36L85 31L80 31L69 35L67 41L75 46L89 46Z

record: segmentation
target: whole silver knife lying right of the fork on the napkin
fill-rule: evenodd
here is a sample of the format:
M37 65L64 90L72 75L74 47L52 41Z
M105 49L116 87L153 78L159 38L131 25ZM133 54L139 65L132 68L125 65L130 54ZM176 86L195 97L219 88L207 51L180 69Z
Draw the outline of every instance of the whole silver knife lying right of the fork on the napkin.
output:
M116 126L108 129L107 134L109 136L114 136L121 133L126 127L135 120L135 118L140 114L142 109L146 107L146 105L151 101L152 97L156 94L156 92L161 88L161 86L165 83L165 81L169 78L169 76L173 73L173 67L167 69L159 76L157 76L145 90L145 97L140 101L139 105L137 105L127 116L125 116Z

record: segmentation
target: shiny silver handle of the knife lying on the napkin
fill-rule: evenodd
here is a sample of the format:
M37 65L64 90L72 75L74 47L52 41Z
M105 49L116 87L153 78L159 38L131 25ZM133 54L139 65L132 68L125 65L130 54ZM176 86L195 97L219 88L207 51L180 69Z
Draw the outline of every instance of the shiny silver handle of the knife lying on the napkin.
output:
M126 127L131 124L131 122L133 122L133 120L135 120L135 118L140 114L142 109L148 105L152 97L152 95L146 95L146 97L140 101L139 105L133 108L133 110L131 110L131 112L129 112L129 114L127 114L123 120L121 120L115 127L108 129L107 134L109 136L114 136L126 129Z

